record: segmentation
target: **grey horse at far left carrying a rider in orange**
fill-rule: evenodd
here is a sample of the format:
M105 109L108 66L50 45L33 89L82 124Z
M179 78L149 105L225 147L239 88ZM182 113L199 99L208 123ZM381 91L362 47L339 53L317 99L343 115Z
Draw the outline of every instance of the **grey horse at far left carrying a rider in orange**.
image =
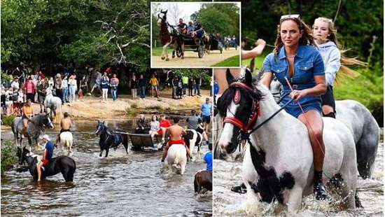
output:
M20 146L22 146L22 118L15 118L10 127L15 137L16 144L18 144L18 141L20 139ZM32 146L32 139L36 141L37 146L40 146L40 144L38 144L38 138L44 134L45 127L49 127L51 129L53 129L54 127L48 114L41 113L31 118L31 121L29 121L28 123L27 132L29 147Z

